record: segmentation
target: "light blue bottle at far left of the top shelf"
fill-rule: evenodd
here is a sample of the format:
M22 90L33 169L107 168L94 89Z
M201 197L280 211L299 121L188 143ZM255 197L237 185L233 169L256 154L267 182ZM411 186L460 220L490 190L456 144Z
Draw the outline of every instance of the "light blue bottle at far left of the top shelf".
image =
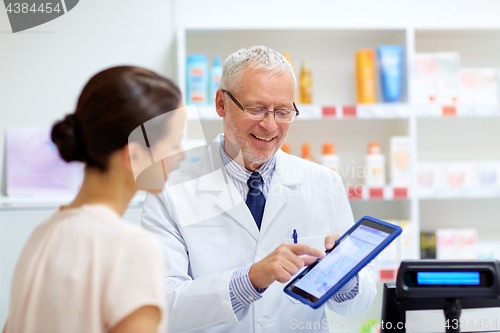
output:
M207 105L208 63L204 54L191 54L186 63L187 104Z

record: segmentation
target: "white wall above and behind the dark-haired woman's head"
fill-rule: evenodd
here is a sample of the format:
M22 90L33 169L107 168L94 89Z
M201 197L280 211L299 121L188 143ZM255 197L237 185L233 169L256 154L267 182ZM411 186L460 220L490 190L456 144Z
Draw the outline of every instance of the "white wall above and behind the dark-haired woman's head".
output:
M13 34L0 5L0 175L6 127L51 126L74 111L98 71L131 64L175 79L173 9L173 0L81 0L61 17Z

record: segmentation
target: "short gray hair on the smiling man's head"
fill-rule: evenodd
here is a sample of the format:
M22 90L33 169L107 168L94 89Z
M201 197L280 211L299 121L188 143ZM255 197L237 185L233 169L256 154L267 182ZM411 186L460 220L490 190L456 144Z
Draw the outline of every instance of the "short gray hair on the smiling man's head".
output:
M238 91L240 89L241 73L247 66L276 74L281 74L287 70L292 75L294 86L297 88L297 78L292 65L281 53L263 45L252 46L247 49L242 48L231 54L222 67L219 88L231 92Z

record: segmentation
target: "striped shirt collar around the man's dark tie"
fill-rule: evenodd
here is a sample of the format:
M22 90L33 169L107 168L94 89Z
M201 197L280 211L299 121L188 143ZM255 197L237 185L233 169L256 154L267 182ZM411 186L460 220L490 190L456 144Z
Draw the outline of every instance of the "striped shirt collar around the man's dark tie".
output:
M236 163L229 155L226 153L224 148L224 134L219 134L218 140L221 142L220 145L220 155L222 161L224 162L224 167L227 173L236 179L237 181L246 183L250 178L252 172L247 170L244 166ZM268 184L271 181L274 170L276 167L276 154L274 154L269 160L258 168L257 171L262 176L264 184Z

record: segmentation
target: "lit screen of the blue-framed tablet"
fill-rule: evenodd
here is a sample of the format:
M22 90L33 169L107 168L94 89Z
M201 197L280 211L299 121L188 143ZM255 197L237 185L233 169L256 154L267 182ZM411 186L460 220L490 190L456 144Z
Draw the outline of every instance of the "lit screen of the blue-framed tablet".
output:
M360 225L298 280L294 287L312 295L311 301L317 301L389 236L390 231Z

